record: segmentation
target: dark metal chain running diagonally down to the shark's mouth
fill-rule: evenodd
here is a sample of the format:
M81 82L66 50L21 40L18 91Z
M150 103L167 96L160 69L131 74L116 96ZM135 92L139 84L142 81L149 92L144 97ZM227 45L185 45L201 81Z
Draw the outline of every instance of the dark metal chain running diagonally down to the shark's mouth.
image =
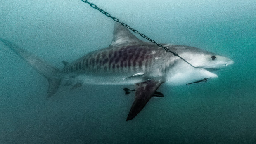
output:
M190 66L197 68L195 66L193 66L192 64L190 64L189 62L187 62L185 59L183 59L182 57L179 56L179 54L177 52L173 52L170 49L168 49L167 47L164 47L163 45L161 45L160 43L157 43L155 40L152 40L151 38L147 37L146 35L139 33L139 31L131 28L130 26L128 26L126 23L123 23L121 21L119 21L119 19L117 19L116 17L111 16L108 12L104 11L103 9L100 9L99 7L97 7L97 5L88 2L88 0L82 0L85 3L88 3L92 8L97 9L98 11L100 11L102 14L106 15L107 17L110 17L111 19L113 19L114 21L122 24L123 26L125 26L126 28L130 29L131 31L133 31L136 34L139 34L142 38L146 38L147 40L149 40L150 42L156 44L159 47L162 47L164 50L166 50L166 52L171 52L173 55L179 57L180 59L182 59L183 61L185 61L187 64L189 64Z

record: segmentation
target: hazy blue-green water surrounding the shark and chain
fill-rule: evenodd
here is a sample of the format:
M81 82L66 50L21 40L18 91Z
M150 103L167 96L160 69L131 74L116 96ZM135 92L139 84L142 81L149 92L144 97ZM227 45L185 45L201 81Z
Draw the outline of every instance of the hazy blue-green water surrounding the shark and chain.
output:
M62 86L47 98L47 80L0 42L0 144L256 143L255 0L89 2L157 42L234 64L207 83L162 85L165 97L126 122L134 93L125 95L123 85ZM58 68L108 47L113 29L81 0L0 1L0 38Z

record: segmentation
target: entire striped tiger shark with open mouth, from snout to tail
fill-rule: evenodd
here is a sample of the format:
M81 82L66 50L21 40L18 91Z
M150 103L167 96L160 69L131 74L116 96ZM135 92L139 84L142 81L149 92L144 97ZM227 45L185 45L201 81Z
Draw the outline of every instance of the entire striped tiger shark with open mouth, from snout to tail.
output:
M85 84L135 84L135 100L127 120L133 119L152 96L163 97L156 92L162 83L182 85L205 81L217 77L206 69L233 64L227 57L196 47L162 44L199 67L193 68L161 47L139 40L121 24L115 24L109 47L85 54L71 63L63 61L65 66L61 70L5 39L0 40L47 78L48 96L55 94L61 83L73 84L73 88Z

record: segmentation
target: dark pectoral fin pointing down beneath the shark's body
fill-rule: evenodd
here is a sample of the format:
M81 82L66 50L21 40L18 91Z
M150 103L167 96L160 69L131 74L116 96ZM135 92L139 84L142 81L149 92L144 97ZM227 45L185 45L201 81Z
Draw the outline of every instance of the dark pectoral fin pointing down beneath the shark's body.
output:
M162 83L164 82L161 80L147 80L136 84L135 100L126 121L132 120L140 113Z

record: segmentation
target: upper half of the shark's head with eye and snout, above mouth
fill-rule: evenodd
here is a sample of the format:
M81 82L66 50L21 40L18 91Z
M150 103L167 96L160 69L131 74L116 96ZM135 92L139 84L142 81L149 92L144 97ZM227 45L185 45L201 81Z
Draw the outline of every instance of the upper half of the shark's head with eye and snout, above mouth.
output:
M184 46L182 49L178 54L185 57L195 67L220 69L234 63L234 61L227 57L196 47Z

